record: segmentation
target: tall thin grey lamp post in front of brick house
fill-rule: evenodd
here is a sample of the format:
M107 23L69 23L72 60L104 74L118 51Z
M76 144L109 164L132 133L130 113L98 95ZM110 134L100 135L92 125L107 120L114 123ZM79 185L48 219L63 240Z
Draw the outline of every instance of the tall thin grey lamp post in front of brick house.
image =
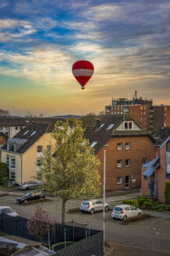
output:
M108 145L104 145L104 163L103 163L103 253L105 240L105 151Z

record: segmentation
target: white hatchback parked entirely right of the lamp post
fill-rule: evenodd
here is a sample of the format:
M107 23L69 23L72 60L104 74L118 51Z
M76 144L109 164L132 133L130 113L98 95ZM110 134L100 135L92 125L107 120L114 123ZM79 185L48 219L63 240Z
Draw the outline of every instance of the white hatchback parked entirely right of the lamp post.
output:
M112 219L128 219L132 217L141 217L143 212L135 206L129 204L116 205L113 208Z

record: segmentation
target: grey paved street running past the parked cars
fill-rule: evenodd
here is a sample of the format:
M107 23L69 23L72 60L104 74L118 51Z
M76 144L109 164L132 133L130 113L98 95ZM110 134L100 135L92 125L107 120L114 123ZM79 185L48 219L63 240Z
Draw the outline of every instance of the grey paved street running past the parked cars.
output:
M24 193L23 193L24 194ZM37 204L41 204L49 212L51 219L61 222L61 201L43 201L28 205L16 204L17 196L0 197L0 205L11 206L20 216L30 219L34 215ZM80 205L80 201L71 201L67 208ZM112 211L106 212L105 238L108 243L128 245L155 251L164 254L170 252L170 221L166 219L151 218L130 225L122 225L119 220L111 218ZM66 222L73 220L83 224L88 224L91 229L102 228L102 212L94 215L83 214L81 212L66 214ZM149 254L148 254L149 255Z

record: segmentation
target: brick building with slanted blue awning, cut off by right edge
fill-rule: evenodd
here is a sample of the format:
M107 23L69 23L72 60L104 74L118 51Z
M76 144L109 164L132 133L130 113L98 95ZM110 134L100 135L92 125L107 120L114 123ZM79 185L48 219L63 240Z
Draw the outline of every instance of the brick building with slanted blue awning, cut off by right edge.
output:
M165 183L170 181L170 127L154 134L157 157L142 168L141 192L165 203Z

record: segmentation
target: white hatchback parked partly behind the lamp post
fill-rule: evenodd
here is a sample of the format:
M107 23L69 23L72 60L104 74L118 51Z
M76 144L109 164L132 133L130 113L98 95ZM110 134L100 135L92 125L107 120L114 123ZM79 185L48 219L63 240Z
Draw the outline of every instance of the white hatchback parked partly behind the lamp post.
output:
M105 212L108 212L108 204L104 204ZM103 202L100 200L89 200L89 201L83 201L80 206L81 212L90 212L90 214L94 214L94 212L99 212L103 210Z

